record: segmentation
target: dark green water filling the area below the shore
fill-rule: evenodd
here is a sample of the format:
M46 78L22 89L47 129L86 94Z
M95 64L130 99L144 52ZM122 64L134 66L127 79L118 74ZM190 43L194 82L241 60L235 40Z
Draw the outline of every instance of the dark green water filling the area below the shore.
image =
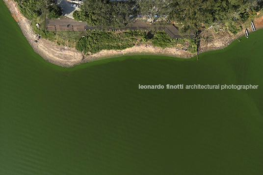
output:
M199 61L126 56L65 69L0 7L0 175L262 175L263 30Z

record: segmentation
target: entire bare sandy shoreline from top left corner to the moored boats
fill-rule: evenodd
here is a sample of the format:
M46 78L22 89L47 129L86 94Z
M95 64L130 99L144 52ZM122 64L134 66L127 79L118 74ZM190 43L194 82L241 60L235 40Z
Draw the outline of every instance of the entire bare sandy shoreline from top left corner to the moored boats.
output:
M161 49L149 44L141 44L140 46L133 46L132 48L127 48L125 50L101 50L91 55L84 55L82 52L76 50L75 48L58 46L55 43L42 37L37 42L35 42L38 35L33 32L30 21L27 20L26 17L24 17L24 15L20 13L17 2L13 0L3 1L9 9L12 17L15 19L15 21L17 21L24 36L26 37L26 40L33 48L33 50L46 61L67 68L96 60L120 57L124 55L146 55L146 53L147 55L162 55L188 59L196 56L197 53L200 54L210 50L220 50L226 48L237 38L244 35L243 30L245 30L243 29L235 36L228 33L226 36L221 38L219 37L213 42L205 42L203 41L204 39L201 39L197 53L184 52L183 50L176 50L176 48ZM255 26L257 29L262 28L262 26Z

